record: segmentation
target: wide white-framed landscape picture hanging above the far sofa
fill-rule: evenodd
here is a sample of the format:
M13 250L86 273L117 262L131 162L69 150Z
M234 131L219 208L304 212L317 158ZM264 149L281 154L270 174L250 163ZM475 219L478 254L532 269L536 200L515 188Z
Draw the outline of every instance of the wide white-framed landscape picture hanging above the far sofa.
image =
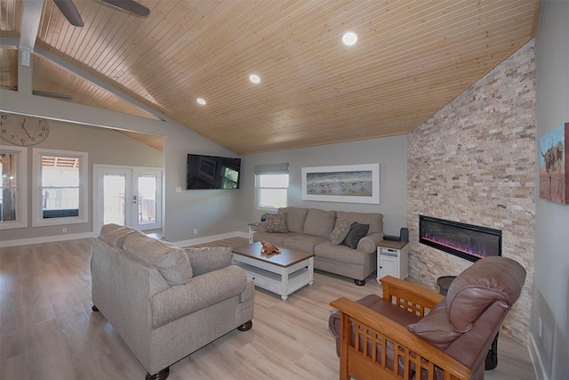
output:
M303 167L302 199L380 203L380 164Z

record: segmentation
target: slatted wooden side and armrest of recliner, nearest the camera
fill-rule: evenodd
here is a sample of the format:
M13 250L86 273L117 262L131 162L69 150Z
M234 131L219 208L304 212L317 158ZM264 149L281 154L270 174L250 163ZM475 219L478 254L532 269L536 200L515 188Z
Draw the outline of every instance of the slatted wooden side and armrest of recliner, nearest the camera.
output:
M330 304L341 313L341 379L395 379L412 371L432 379L436 367L445 379L469 379L469 368L397 322L344 297Z

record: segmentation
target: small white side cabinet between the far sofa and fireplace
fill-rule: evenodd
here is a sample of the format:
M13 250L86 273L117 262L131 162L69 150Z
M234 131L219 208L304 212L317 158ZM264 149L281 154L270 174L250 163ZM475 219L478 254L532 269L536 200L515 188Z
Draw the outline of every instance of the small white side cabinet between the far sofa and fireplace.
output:
M377 246L377 280L384 276L407 277L409 245L405 241L383 240Z

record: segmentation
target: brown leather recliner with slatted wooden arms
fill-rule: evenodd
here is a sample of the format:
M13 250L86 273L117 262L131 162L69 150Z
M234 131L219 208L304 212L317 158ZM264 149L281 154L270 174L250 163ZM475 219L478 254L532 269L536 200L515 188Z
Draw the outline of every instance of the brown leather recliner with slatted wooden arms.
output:
M524 282L516 261L486 257L454 279L446 297L386 276L383 298L333 301L340 378L483 379L486 354Z

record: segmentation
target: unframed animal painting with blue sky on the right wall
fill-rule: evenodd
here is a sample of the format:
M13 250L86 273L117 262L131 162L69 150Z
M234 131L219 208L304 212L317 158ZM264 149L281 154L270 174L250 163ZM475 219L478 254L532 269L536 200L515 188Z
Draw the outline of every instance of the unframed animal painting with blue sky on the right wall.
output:
M540 198L569 204L569 123L540 140Z

